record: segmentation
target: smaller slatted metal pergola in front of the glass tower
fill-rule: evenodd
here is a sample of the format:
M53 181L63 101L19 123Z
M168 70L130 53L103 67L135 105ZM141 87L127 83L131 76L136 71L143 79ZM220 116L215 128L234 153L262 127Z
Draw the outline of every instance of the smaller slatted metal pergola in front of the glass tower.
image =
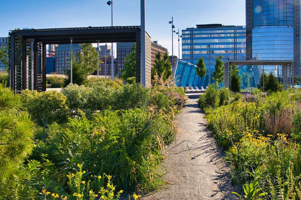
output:
M281 65L283 76L283 89L287 89L287 85L293 87L294 76L296 75L294 60L227 60L224 62L224 83L225 87L230 88L230 66L231 65Z

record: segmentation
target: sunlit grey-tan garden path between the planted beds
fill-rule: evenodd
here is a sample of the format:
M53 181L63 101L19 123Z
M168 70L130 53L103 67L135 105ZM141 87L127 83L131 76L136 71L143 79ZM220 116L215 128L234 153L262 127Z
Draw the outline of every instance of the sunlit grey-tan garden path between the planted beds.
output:
M163 180L169 189L153 192L143 200L235 199L218 147L196 100L188 100L177 116L177 123L184 131L176 136L178 146L167 148L170 150L163 165L169 173Z

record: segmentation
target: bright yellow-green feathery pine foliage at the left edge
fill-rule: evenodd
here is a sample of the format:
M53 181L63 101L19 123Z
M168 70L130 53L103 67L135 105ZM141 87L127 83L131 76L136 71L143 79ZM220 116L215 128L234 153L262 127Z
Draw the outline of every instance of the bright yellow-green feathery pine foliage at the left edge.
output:
M22 161L33 148L34 124L26 111L21 111L20 96L0 84L0 198L18 196L26 189L20 185ZM14 194L15 192L15 194Z

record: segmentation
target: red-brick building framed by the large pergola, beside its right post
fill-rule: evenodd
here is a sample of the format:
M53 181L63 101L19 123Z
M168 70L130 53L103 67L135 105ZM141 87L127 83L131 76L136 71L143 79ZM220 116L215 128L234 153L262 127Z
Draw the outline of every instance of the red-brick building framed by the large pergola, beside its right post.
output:
M121 70L124 68L124 59L132 52L133 45L134 42L119 42L116 44L117 66L115 69L115 76L118 76L118 74L120 74Z

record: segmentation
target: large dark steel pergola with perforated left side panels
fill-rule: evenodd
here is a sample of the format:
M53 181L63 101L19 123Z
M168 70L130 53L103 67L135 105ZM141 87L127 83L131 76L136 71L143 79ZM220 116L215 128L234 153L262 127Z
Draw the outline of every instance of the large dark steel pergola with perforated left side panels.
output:
M31 89L46 90L46 45L73 43L136 42L136 82L141 81L140 26L110 26L55 29L26 29L9 32L9 86L16 93ZM33 40L33 42L32 42ZM33 60L31 54L33 50Z

